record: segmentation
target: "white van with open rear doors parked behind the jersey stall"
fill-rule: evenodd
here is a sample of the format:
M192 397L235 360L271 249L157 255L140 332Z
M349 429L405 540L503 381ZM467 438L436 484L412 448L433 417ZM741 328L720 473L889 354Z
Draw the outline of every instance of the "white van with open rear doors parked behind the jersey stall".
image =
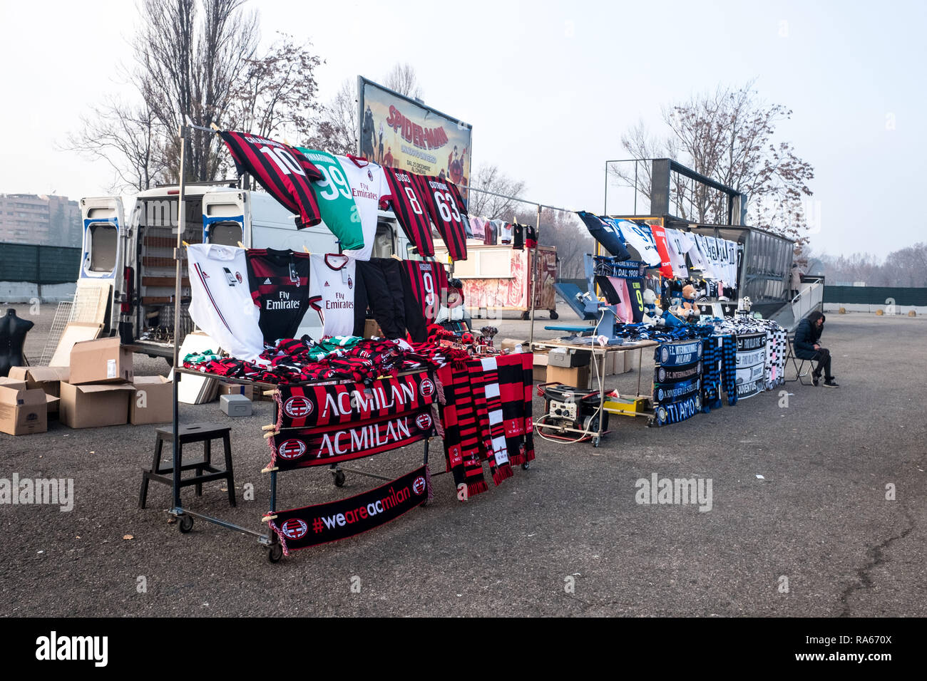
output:
M120 334L123 344L151 357L171 358L173 353L173 250L179 195L179 187L172 185L133 197L81 199L83 253L75 305L82 298L106 295L103 334ZM324 223L297 230L294 217L271 195L239 189L234 181L189 183L183 240L187 244L235 246L241 242L249 248L339 252L335 235ZM380 211L375 257L388 258L393 253L406 257L409 242L396 225L391 211ZM190 296L185 259L181 271L181 334L185 336L194 328L185 313ZM321 332L322 324L310 310L298 335L318 338ZM183 341L183 337L178 339Z

